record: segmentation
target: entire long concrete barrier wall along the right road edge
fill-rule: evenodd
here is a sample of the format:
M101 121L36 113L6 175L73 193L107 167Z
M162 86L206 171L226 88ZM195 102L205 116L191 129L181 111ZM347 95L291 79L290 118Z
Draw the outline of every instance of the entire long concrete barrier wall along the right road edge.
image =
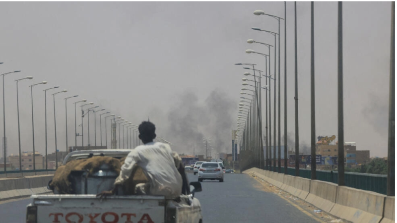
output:
M243 173L253 173L315 207L353 223L395 223L395 197L256 167Z

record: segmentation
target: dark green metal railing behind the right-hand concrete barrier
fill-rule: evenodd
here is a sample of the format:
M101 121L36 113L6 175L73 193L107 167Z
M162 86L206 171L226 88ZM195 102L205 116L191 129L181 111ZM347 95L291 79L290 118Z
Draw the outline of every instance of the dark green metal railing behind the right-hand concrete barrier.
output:
M277 167L276 167L277 170ZM288 175L295 176L295 168L288 167ZM281 167L281 172L284 173L284 167ZM299 169L299 176L303 178L311 178L311 169ZM338 172L328 170L316 170L318 180L327 181L331 183L338 183ZM373 191L380 194L387 194L387 175L345 172L344 173L345 186L353 187L361 190Z

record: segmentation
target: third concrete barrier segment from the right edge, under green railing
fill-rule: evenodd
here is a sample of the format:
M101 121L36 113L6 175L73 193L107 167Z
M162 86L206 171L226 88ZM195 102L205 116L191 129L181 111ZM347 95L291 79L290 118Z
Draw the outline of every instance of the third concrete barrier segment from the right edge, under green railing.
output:
M336 203L338 185L321 180L310 181L310 191L305 201L326 212L331 212Z

